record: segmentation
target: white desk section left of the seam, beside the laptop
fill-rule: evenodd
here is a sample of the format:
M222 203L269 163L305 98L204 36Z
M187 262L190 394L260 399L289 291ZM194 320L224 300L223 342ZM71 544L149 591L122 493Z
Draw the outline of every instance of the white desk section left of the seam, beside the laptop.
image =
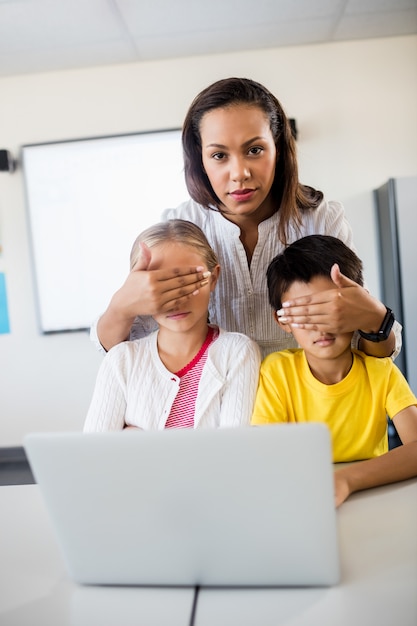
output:
M0 487L1 626L188 626L193 599L194 588L74 584L38 486Z

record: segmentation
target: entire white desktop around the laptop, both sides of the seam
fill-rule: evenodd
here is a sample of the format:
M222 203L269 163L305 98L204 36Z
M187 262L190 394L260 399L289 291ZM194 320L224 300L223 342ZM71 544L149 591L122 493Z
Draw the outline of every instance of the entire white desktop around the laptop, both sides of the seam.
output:
M37 485L0 487L0 511L0 624L190 624L194 589L72 583ZM195 626L416 626L417 480L355 494L338 523L338 586L201 589Z

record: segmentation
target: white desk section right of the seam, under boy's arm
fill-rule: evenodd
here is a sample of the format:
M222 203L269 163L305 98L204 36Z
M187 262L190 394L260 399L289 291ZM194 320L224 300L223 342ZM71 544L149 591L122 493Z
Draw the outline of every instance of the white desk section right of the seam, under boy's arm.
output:
M338 518L340 585L203 589L195 626L416 626L417 480L354 494Z

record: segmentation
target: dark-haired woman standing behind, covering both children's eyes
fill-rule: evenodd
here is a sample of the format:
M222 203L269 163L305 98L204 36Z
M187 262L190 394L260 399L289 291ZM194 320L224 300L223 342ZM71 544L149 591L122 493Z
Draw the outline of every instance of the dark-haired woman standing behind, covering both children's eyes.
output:
M266 269L306 235L332 235L353 248L342 205L299 182L289 121L275 96L253 80L228 78L204 89L186 115L182 142L191 200L165 211L163 219L200 226L219 257L222 275L210 321L248 335L263 357L294 347L271 315ZM149 315L180 307L198 293L199 267L157 272L148 270L150 263L151 254L142 254L92 328L92 339L105 350L129 335L147 334ZM333 333L361 329L367 337L355 333L355 347L374 356L398 354L401 327L387 326L386 307L341 274L335 284L338 289L284 303L288 321ZM378 333L383 322L386 335Z

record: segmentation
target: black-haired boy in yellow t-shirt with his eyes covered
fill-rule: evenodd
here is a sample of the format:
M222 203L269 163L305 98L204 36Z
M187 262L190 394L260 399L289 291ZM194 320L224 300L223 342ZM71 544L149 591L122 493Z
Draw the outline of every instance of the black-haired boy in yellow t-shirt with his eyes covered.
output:
M252 416L255 425L324 422L334 462L363 461L335 472L337 506L354 491L417 476L417 398L392 360L352 349L353 333L331 334L285 315L295 298L307 304L311 294L329 290L337 307L346 288L338 287L340 274L350 279L348 289L363 284L360 259L326 235L299 239L269 265L275 320L301 348L264 359ZM391 451L387 415L403 444Z

